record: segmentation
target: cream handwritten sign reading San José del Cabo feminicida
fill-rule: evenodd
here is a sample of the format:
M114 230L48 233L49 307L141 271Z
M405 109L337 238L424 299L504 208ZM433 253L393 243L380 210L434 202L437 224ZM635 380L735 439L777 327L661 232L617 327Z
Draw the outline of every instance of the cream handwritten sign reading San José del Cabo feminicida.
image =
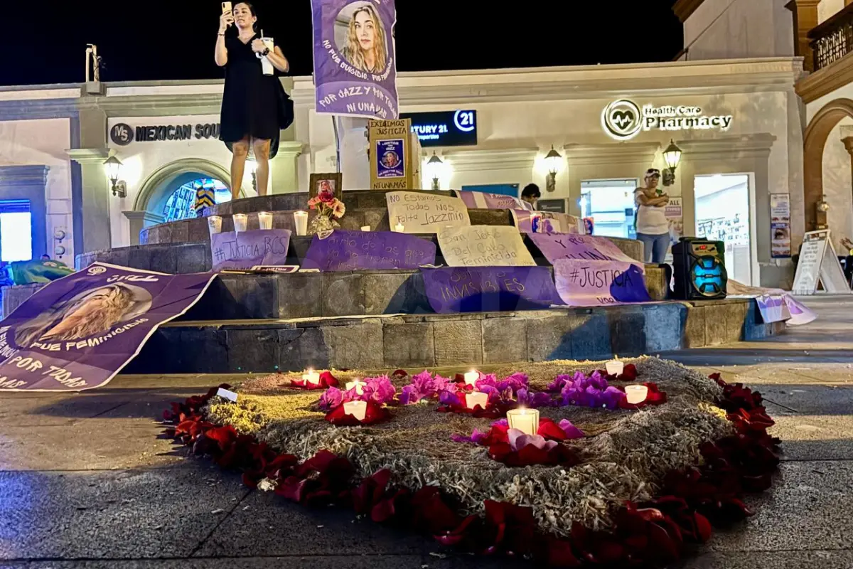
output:
M438 246L451 267L534 267L519 230L508 225L469 225L438 232Z

